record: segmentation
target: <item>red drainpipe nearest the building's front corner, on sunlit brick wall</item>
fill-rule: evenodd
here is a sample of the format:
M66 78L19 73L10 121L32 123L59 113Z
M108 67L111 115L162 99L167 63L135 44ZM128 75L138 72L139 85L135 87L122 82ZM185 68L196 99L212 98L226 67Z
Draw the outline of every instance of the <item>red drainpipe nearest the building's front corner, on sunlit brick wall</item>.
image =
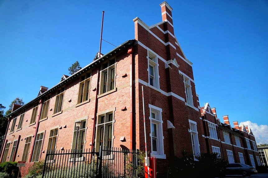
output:
M131 101L130 101L130 108L131 108L131 111L130 111L130 150L133 150L133 110L134 110L134 105L133 105L134 91L133 90L135 88L133 87L133 82L132 82L132 79L135 77L134 76L135 73L133 72L133 65L135 64L135 58L134 58L133 52L134 52L133 47L129 48L127 51L127 53L130 54L131 56L131 61L130 61L130 98L131 98Z

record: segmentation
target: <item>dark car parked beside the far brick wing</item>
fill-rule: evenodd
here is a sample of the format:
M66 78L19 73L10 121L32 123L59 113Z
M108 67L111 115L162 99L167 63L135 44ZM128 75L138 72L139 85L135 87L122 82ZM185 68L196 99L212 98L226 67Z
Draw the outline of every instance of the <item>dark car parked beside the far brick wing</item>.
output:
M223 170L224 176L242 175L243 177L245 177L245 176L250 176L252 174L257 174L257 173L258 171L256 171L256 167L249 166L249 165L242 164L242 163L227 164Z

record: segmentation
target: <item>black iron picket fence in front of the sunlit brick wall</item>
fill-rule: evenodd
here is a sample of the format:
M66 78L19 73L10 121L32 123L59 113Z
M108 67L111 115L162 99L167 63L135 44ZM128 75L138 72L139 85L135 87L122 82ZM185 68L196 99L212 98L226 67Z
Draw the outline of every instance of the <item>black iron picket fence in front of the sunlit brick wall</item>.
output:
M138 177L139 152L118 148L103 150L53 150L47 152L42 178Z

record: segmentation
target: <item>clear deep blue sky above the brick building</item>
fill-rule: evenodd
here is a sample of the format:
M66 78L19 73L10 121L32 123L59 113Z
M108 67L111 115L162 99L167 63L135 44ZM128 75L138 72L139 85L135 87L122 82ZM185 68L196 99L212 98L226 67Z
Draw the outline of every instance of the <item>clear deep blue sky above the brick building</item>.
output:
M102 11L103 39L118 46L134 39L135 17L149 26L162 20L161 2L0 0L0 103L29 102L76 60L81 67L92 62ZM267 126L268 1L167 2L175 36L193 63L201 107L209 102L232 126L236 120ZM103 41L102 53L113 48Z

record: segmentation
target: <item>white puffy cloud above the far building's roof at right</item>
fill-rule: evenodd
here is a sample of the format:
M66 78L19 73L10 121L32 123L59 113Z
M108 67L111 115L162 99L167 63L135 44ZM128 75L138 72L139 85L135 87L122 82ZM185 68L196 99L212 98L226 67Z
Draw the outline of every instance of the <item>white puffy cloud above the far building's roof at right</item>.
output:
M257 145L264 143L268 144L268 125L258 125L249 120L246 122L241 122L239 126L241 124L244 124L245 126L247 125L251 129L253 135L255 136Z

